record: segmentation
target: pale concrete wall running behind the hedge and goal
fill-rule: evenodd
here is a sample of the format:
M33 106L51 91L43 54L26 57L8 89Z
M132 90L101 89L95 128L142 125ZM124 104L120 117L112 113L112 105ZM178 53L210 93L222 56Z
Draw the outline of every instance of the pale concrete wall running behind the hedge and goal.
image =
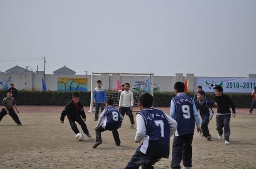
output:
M88 91L91 90L91 75L44 75L43 71L31 72L27 71L23 75L18 74L0 74L0 89L10 83L14 83L14 87L18 90L42 90L42 78L45 79L47 90L57 90L59 77L88 78ZM249 78L256 78L256 74L249 74ZM8 78L9 81L8 81ZM154 76L154 88L158 88L161 92L173 92L176 81L189 81L189 91L197 91L197 78L194 74L175 74L175 76ZM148 76L131 76L131 75L95 75L93 80L93 88L97 86L96 81L102 81L103 88L116 89L116 81L120 80L120 84L130 83L131 88L135 88L135 81L145 81Z

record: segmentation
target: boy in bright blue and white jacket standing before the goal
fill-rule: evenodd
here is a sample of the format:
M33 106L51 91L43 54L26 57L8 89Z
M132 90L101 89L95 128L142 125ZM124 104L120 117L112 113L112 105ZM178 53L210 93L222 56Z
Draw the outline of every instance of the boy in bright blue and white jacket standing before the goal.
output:
M97 81L97 88L94 88L93 91L94 96L94 104L95 104L95 114L94 114L94 121L97 121L99 118L99 110L101 107L101 113L104 110L104 103L106 101L106 93L105 89L101 88L101 81Z

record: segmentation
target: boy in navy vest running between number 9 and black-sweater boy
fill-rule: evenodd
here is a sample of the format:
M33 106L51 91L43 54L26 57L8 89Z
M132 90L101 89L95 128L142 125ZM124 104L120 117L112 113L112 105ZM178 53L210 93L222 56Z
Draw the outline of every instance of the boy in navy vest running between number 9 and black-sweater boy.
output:
M213 117L212 106L217 106L217 103L214 101L206 100L204 96L205 93L203 90L197 92L197 100L195 102L195 106L200 110L200 116L202 118L202 134L205 138L207 138L207 140L210 140L211 135L209 133L208 124Z

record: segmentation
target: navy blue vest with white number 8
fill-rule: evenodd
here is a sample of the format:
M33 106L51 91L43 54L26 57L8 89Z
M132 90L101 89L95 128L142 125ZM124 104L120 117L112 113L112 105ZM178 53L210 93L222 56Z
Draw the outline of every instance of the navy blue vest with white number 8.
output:
M106 124L105 129L107 130L117 130L119 126L121 125L121 119L120 119L120 113L119 111L113 107L108 106L105 108L107 113L104 116L104 124Z

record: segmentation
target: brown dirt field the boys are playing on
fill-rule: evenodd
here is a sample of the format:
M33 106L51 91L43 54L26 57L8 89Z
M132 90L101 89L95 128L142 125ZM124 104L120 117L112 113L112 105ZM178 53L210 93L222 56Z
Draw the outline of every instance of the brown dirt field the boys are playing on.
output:
M128 116L118 130L120 147L115 146L111 131L105 131L103 143L93 149L94 114L87 113L86 122L92 138L78 142L67 118L64 124L60 123L63 106L18 108L22 126L17 126L8 115L0 122L1 169L122 169L139 146L134 142L136 129L129 128ZM161 109L169 112L168 108ZM248 109L237 109L237 117L231 119L230 145L217 140L215 117L209 124L212 141L195 133L193 169L256 169L256 110L253 115L247 112ZM155 168L168 169L170 159L171 152L169 159L163 158Z

